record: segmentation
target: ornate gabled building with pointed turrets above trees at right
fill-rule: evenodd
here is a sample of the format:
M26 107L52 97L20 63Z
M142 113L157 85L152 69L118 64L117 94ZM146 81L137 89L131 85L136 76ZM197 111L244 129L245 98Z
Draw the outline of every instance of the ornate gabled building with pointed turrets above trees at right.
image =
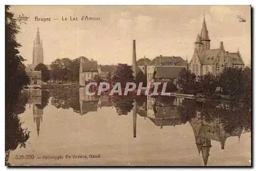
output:
M223 41L220 42L219 48L210 49L210 41L204 17L201 34L197 34L194 54L189 63L191 72L197 76L207 73L219 75L229 67L244 69L244 61L239 49L237 52L226 51Z

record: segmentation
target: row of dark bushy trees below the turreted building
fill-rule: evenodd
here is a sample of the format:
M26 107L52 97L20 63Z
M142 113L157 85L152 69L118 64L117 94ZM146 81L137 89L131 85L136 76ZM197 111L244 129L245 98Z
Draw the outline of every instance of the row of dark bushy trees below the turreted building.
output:
M197 77L188 69L179 73L177 83L184 94L202 94L206 98L251 100L251 69L226 68L219 76L211 73Z

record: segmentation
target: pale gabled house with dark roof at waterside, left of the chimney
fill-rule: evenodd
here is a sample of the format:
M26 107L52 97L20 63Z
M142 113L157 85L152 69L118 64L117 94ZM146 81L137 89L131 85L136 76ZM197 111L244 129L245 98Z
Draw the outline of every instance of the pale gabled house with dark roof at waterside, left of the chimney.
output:
M91 60L80 60L79 70L79 85L86 86L86 82L92 81L94 76L98 74L97 61Z

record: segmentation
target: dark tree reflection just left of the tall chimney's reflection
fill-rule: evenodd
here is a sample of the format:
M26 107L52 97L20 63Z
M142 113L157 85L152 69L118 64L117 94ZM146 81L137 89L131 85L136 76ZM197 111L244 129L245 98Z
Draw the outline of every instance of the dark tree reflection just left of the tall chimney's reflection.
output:
M133 109L133 96L113 96L112 101L118 115L127 115Z

